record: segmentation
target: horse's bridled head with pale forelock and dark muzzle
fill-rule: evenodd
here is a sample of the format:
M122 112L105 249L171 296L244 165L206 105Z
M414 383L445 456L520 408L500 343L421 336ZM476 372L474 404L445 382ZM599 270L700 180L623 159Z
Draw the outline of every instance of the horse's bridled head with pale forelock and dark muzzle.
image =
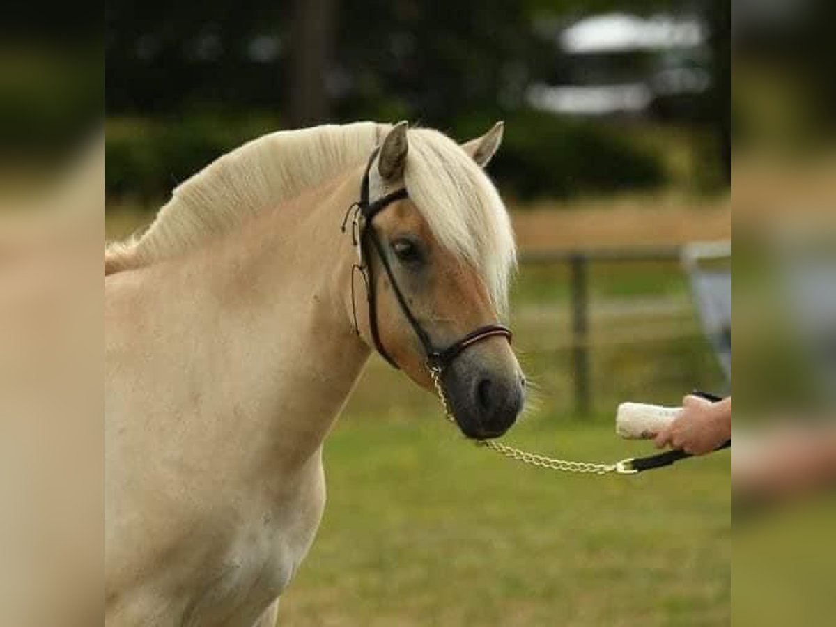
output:
M502 124L461 146L405 122L391 128L368 171L372 306L355 303L368 344L435 391L430 358L461 431L479 439L512 426L525 387L507 329L497 326L515 250L482 167L501 140Z

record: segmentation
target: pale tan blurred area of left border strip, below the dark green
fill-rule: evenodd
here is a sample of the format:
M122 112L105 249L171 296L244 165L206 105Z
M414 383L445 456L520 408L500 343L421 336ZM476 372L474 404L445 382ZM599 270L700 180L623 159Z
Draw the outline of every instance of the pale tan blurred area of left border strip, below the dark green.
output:
M99 138L0 212L3 625L101 620L103 181Z

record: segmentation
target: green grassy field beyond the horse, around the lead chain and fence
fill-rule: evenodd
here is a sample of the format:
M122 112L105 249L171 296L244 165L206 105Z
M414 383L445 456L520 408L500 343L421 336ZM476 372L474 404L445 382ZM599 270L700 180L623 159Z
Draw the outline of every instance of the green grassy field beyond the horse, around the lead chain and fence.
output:
M538 399L506 441L581 461L643 455L652 447L614 436L619 400L674 403L694 385L717 389L675 268L650 268L650 278L635 270L624 277L635 282L633 297L610 291L614 271L601 270L594 328L609 333L617 323L635 333L641 311L647 329L659 324L660 304L684 303L676 315L693 333L594 347L591 416L571 412L565 293L536 273L517 283L513 326ZM651 303L650 315L643 307L625 314L617 303ZM549 344L556 348L543 350ZM323 527L279 624L730 623L728 453L640 477L520 466L464 440L431 395L377 358L325 453Z

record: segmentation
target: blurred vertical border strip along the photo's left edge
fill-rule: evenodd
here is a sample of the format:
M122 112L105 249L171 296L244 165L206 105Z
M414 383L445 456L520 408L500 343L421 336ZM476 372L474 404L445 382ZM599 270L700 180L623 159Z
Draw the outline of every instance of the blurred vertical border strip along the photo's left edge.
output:
M102 613L100 17L0 20L0 624Z

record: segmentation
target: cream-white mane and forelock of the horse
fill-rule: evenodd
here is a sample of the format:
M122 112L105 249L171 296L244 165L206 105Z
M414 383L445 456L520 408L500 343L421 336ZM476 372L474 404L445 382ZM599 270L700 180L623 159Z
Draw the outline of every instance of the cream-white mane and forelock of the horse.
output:
M390 125L357 122L263 135L177 186L139 236L110 242L104 273L150 265L229 232L259 212L363 163ZM408 130L405 186L442 246L481 271L492 301L507 304L515 260L510 220L482 168L453 140Z

